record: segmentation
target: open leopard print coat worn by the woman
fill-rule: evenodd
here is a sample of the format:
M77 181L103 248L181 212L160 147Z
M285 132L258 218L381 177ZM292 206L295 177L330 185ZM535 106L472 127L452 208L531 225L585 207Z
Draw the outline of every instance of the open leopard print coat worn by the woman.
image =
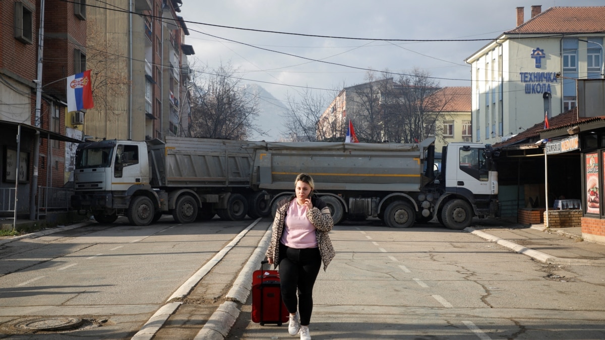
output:
M280 258L280 240L281 235L284 232L284 226L286 225L286 214L290 203L294 197L286 198L280 201L280 205L275 213L275 219L273 220L271 243L267 249L267 258L273 259L273 264L277 267L277 260ZM307 218L315 226L315 235L317 237L317 244L319 246L319 254L321 255L321 261L324 263L324 271L330 264L330 261L334 258L335 252L332 246L332 241L328 236L328 232L332 230L334 226L334 220L332 220L332 214L330 214L330 208L321 200L321 198L313 195L311 197L311 203L313 209L307 211Z

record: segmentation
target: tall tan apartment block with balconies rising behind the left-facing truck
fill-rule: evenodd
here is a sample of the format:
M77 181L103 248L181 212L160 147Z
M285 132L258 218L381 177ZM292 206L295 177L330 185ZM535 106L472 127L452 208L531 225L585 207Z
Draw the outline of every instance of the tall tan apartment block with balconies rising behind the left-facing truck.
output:
M88 60L102 102L85 115L87 138L183 136L178 126L189 80L186 56L194 52L184 44L189 32L177 16L181 0L131 0L128 8L119 0L89 3L88 49L97 56Z

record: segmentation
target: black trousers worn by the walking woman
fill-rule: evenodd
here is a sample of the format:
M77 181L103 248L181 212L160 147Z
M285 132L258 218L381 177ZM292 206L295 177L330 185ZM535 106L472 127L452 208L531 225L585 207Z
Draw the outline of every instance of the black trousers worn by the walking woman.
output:
M298 304L301 325L309 325L313 312L313 285L321 268L319 248L295 249L280 243L278 265L281 298L286 304L286 309L294 314Z

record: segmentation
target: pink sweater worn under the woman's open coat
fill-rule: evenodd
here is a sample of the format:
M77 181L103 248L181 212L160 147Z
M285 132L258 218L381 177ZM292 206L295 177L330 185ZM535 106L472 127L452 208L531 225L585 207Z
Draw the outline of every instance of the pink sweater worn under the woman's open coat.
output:
M295 249L317 247L315 226L307 218L307 207L296 203L296 198L290 203L281 243Z

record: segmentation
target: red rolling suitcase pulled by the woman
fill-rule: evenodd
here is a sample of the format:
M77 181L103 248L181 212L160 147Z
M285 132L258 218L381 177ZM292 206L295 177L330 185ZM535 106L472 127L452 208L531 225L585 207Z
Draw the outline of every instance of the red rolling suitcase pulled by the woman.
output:
M288 321L290 313L281 299L280 273L277 270L255 270L252 274L252 322L277 324Z

